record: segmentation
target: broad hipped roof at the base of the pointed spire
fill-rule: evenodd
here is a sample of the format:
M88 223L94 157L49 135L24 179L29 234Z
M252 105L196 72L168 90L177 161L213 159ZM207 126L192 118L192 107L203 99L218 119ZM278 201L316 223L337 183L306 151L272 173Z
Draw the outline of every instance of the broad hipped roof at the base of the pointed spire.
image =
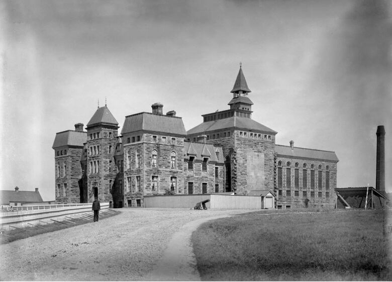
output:
M256 130L261 131L263 133L276 134L277 132L252 120L249 118L243 117L230 117L226 119L204 122L198 126L193 127L192 129L187 131L187 135L204 133L209 131L216 131L221 129L243 129L243 130Z

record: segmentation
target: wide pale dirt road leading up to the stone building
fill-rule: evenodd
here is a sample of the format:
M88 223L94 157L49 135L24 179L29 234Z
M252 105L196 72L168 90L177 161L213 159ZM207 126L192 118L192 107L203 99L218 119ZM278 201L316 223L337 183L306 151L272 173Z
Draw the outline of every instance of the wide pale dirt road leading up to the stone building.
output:
M95 223L1 245L1 280L198 280L190 235L246 210L121 209Z

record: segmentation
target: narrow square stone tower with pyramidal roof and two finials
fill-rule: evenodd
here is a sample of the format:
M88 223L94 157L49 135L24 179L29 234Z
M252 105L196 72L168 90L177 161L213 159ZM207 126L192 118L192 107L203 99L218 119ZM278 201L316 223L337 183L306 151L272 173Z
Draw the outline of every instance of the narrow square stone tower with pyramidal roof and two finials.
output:
M89 203L95 197L113 202L111 188L118 172L114 165L118 124L107 105L98 108L87 123L87 195L83 198Z

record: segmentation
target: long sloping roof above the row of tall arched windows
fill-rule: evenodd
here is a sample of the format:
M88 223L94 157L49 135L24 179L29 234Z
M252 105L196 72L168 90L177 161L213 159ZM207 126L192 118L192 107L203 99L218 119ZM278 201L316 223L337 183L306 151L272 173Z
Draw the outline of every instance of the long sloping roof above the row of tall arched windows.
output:
M291 150L290 146L275 145L275 152L277 156L288 156L293 158L306 158L314 160L328 160L332 162L339 161L335 152L332 151L323 151L299 147L294 147L294 149Z

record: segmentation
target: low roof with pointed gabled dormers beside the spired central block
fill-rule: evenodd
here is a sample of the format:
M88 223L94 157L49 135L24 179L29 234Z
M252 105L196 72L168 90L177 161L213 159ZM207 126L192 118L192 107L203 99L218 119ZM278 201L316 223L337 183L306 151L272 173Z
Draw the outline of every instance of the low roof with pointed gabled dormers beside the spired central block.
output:
M223 163L225 162L224 158L223 158L223 150L222 147L216 147L212 144L206 144L206 143L200 143L200 142L188 142L188 141L184 141L184 158L188 159L189 155L190 156L194 156L195 160L201 160L203 161L204 157L208 157L208 155L204 155L204 152L214 152L214 153L210 153L210 161L216 161L216 162L220 162ZM218 150L218 157L216 154L216 151ZM188 153L191 152L191 153Z

